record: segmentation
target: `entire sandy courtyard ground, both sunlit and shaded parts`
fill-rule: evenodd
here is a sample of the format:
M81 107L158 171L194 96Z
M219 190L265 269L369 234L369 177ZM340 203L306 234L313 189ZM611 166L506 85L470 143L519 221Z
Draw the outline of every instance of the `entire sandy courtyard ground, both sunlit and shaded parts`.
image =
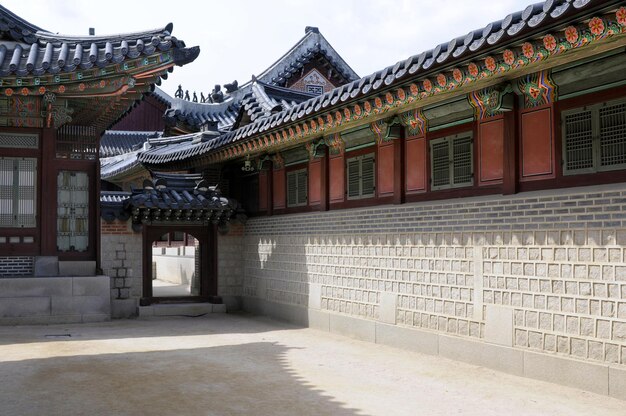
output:
M0 328L2 416L625 414L605 396L247 316Z

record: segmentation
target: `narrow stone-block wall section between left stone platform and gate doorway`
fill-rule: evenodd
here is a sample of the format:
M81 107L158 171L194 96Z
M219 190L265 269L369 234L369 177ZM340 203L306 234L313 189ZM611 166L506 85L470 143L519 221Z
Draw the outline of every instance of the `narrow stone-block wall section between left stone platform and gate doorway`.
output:
M100 262L111 277L111 317L137 315L142 291L142 236L130 221L101 222Z

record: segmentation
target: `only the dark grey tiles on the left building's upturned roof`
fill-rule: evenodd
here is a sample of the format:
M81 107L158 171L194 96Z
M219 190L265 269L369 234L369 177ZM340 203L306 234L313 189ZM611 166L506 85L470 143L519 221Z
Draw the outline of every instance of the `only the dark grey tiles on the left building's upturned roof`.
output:
M102 68L126 59L172 50L178 65L192 61L199 48L171 36L164 28L115 36L59 35L34 26L0 6L0 34L14 43L0 45L0 76L27 76Z

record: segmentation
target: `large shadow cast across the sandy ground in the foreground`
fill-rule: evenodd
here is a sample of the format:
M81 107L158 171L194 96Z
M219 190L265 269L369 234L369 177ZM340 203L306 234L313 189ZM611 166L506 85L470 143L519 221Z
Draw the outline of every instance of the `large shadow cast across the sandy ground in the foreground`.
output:
M255 342L0 363L6 381L0 409L7 415L359 414L298 377L290 349Z

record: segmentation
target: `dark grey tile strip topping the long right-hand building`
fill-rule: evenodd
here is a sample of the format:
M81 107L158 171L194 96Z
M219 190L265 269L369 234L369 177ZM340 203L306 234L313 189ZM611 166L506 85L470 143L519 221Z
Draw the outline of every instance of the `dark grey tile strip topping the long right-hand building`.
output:
M623 1L617 0L545 0L323 95L285 108L269 117L259 118L237 130L208 141L198 142L188 139L186 145L177 143L170 149L151 149L140 154L139 160L147 165L189 160L259 133L329 111L333 107L345 105L349 101L385 88L400 86L420 76L450 68L459 62L485 56L494 50L532 38L552 28L563 27L571 19L590 17L593 13L614 8L622 3Z

